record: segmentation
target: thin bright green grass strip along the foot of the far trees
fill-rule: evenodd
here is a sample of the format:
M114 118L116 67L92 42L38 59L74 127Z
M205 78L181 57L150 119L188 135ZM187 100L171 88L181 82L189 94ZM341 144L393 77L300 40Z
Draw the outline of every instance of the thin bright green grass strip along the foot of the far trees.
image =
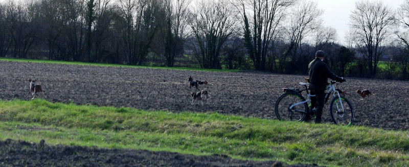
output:
M74 62L74 61L13 59L13 58L0 58L0 61L71 64L71 65L97 65L97 66L107 66L107 67L134 67L134 68L156 68L156 69L176 69L176 70L196 70L196 71L218 71L218 72L237 72L237 71L239 71L237 69L204 69L204 68L189 68L189 67L153 67L153 66L138 66L138 65L124 65L124 64L85 63L85 62Z

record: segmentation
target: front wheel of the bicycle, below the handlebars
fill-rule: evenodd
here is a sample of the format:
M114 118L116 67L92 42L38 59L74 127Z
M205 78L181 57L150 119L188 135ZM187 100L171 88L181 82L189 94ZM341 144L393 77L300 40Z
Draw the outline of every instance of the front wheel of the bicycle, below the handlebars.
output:
M343 96L332 99L329 108L335 124L350 126L354 122L354 109L349 100Z

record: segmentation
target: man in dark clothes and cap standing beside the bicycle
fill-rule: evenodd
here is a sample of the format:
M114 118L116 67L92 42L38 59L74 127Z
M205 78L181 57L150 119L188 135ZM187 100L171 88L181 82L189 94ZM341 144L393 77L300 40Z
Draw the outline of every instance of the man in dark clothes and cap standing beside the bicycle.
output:
M323 60L325 58L324 51L317 51L315 53L315 59L308 64L308 78L310 83L310 93L315 94L315 97L311 97L311 109L316 106L316 117L315 124L321 123L321 116L323 114L324 101L325 101L325 90L328 85L328 78L338 81L345 82L343 77L338 77L331 72L327 63ZM309 120L309 117L307 118Z

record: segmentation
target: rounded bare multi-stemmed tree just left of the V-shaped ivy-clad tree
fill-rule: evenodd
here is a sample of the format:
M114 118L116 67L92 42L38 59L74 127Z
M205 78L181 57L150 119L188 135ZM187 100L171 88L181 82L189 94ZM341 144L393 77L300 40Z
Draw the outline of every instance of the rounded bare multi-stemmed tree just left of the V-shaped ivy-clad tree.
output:
M234 32L235 20L226 1L199 2L192 12L190 27L193 50L201 68L221 68L220 52Z

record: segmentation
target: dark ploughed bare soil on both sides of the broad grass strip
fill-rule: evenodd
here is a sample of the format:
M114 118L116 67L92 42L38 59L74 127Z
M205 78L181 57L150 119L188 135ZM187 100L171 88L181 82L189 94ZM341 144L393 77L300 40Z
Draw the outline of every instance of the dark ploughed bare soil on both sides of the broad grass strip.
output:
M197 80L207 80L210 83L199 85L200 89L208 90L211 95L205 105L201 106L198 102L191 104L190 94L195 89L188 86L189 76ZM253 71L223 73L0 61L0 77L2 81L0 84L1 100L31 100L32 95L28 80L34 79L46 91L46 93L39 93L36 98L50 102L133 107L151 111L218 112L276 119L274 104L282 94L281 88L301 88L299 82L304 82L305 76ZM347 92L346 96L354 107L354 125L385 130L409 129L406 109L409 107L409 103L406 103L409 100L409 89L406 81L347 78L347 82L339 84L338 88ZM375 95L360 100L361 97L355 92L356 89L369 89ZM332 124L328 103L326 106L323 122ZM46 145L43 148L47 149L34 149L33 151L32 148L37 148L37 145L14 140L0 142L1 149L9 148L9 150L18 153L17 155L23 156L24 153L20 151L24 149L20 147L24 147L31 150L26 151L26 153L41 152L36 157L38 161L50 160L49 163L61 166L67 165L67 163L61 163L63 162L62 159L66 160L67 158L76 166L99 165L102 162L104 166L138 166L141 164L147 166L271 166L274 163L276 166L287 165L274 161L239 161L222 155L197 157L177 153L106 150L72 146ZM3 152L0 150L0 154ZM67 158L55 156L55 153L64 155L65 152L67 152L65 154L68 156ZM73 153L75 154L73 155ZM69 156L70 154L71 156ZM46 157L42 157L42 155ZM28 157L34 157L25 156L26 158L20 157L20 160L9 158L7 162L10 163L7 164L25 166L29 163ZM127 156L129 156L128 160L122 158ZM0 155L0 157L4 158L4 155ZM110 158L107 159L106 157ZM0 158L0 162L2 160L4 159ZM138 162L135 163L135 161ZM35 165L28 164L28 166ZM299 164L298 166L308 165Z

